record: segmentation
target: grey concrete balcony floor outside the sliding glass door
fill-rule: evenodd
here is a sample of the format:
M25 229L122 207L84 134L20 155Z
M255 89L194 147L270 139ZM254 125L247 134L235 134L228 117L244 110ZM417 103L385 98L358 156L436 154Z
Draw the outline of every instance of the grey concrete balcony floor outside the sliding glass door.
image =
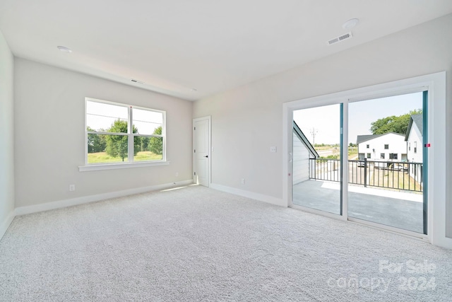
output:
M348 186L348 216L423 232L422 193ZM293 204L340 214L340 183L306 180L293 187Z

